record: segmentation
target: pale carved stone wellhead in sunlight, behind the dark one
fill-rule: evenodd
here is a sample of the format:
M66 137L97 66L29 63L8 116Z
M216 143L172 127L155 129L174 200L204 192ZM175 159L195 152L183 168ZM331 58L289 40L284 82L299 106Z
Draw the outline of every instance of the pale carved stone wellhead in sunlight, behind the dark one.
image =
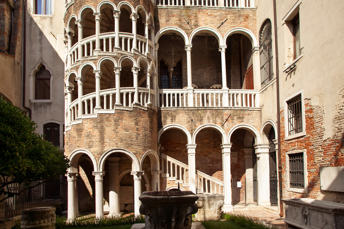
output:
M224 204L224 195L201 194L198 195L198 212L196 220L198 221L216 221L221 217L221 207Z

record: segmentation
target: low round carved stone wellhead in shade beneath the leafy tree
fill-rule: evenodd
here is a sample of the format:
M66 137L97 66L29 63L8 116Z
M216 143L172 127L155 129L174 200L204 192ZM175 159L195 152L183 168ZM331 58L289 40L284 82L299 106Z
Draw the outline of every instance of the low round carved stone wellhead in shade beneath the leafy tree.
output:
M21 210L21 229L55 229L55 207L35 207Z

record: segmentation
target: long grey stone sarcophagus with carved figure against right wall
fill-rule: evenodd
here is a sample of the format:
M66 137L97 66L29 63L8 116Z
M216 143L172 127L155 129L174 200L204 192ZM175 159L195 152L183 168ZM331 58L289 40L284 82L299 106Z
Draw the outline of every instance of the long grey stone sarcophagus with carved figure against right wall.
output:
M344 204L318 199L283 199L284 222L303 229L344 229Z

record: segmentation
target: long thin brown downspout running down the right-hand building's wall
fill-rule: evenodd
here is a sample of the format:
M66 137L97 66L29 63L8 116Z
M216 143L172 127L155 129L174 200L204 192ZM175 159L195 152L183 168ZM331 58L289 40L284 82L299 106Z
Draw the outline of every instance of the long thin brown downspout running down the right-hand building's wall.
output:
M276 0L273 0L273 25L275 27L275 56L276 56L276 95L277 95L277 146L278 146L278 186L279 186L279 202L280 217L283 217L282 202L282 164L281 164L281 120L280 120L280 100L279 100L279 68L278 68L278 43L277 43L277 16L276 16Z

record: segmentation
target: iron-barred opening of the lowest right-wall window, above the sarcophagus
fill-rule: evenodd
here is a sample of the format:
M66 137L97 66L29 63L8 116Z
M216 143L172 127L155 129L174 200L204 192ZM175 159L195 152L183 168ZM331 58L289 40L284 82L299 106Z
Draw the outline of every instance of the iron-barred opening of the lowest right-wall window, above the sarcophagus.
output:
M289 154L289 182L291 188L304 188L303 152Z

